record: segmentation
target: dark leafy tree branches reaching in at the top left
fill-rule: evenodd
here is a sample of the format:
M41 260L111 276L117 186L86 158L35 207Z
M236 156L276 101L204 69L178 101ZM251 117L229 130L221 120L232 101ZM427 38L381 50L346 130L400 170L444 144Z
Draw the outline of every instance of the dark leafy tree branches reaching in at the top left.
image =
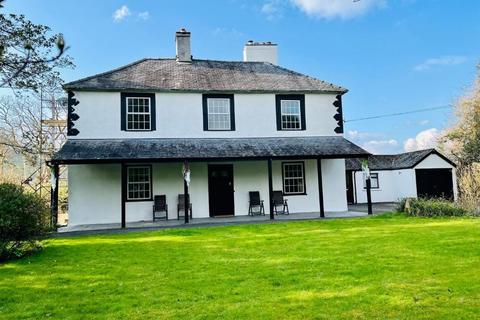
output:
M59 79L57 68L73 66L63 36L49 33L24 15L0 14L0 87L38 90Z

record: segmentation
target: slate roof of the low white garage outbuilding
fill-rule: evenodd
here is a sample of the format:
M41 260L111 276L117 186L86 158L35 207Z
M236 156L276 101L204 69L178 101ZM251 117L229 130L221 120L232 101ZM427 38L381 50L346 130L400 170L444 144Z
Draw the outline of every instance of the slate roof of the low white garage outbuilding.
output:
M443 158L448 163L455 166L455 164L447 157L442 155L435 149L426 149L413 152L405 152L400 154L389 155L371 155L368 158L368 165L371 170L395 170L395 169L409 169L415 167L423 159L430 154L436 154ZM350 158L345 160L345 168L347 170L362 170L362 160L359 158Z

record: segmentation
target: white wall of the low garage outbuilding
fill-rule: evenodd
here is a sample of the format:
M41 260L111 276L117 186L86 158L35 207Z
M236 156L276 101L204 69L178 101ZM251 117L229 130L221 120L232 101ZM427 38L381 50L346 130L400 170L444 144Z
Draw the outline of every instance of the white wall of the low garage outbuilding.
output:
M380 170L378 173L379 189L372 190L372 202L394 202L402 198L417 197L415 169L452 169L453 193L458 197L455 167L436 154L431 154L413 169ZM355 196L358 203L367 202L367 193L363 189L363 173L355 172Z

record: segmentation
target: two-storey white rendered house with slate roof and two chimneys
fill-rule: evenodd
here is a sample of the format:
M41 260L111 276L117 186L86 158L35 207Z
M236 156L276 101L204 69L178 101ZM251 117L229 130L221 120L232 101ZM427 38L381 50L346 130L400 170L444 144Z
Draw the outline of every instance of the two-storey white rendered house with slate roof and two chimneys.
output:
M247 43L244 61L143 59L68 83L69 225L151 221L156 195L177 219L190 169L192 217L247 215L258 191L291 214L347 211L345 158L368 152L343 137L346 89L276 65L277 46ZM58 171L58 169L57 169Z

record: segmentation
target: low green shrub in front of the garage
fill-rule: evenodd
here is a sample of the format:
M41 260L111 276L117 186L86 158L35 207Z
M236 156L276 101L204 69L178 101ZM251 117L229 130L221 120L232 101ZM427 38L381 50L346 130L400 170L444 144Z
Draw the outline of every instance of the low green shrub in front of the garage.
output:
M415 217L460 217L470 214L457 204L444 199L410 199L405 211Z

